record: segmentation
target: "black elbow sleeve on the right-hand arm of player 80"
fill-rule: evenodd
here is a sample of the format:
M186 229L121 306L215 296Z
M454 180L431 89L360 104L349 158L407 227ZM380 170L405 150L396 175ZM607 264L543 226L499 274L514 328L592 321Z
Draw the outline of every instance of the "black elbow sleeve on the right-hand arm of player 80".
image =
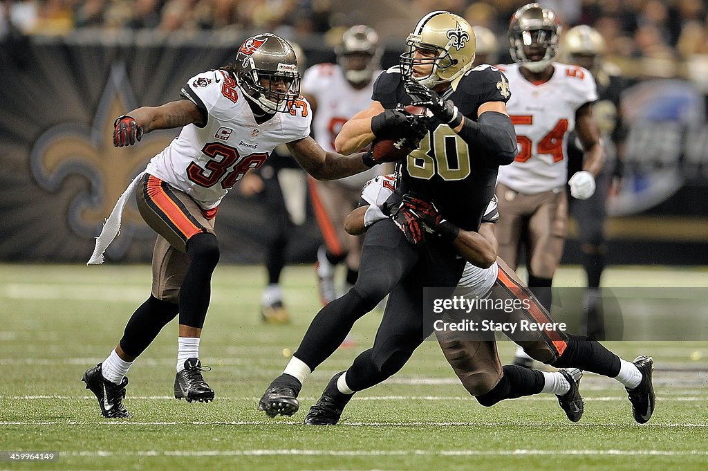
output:
M498 165L508 165L516 157L514 125L503 113L486 111L479 115L476 123L466 119L457 134L464 142L484 152Z

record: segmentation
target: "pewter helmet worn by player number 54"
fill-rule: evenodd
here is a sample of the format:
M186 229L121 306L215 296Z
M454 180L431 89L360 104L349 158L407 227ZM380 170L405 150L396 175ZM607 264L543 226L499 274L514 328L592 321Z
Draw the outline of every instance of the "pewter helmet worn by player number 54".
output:
M542 72L558 55L561 23L549 8L527 4L519 8L509 23L509 52L515 62L531 72ZM532 50L540 48L543 56L537 59Z

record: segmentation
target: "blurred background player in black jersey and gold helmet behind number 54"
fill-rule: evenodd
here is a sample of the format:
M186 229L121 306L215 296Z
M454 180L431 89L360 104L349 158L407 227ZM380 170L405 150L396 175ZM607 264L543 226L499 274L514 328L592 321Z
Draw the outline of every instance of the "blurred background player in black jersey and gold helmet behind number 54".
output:
M610 191L613 176L621 170L622 143L627 137L627 127L622 123L620 96L627 87L627 80L619 75L619 67L603 61L605 40L597 30L588 25L571 28L564 38L564 51L569 63L585 67L593 73L598 86L598 101L593 104L593 115L603 133L605 164L595 177L597 189L587 200L569 198L570 212L578 223L583 268L588 276L585 316L588 336L605 338L605 322L600 309L598 288L605 269L605 199ZM573 132L568 139L568 178L581 171L583 149Z

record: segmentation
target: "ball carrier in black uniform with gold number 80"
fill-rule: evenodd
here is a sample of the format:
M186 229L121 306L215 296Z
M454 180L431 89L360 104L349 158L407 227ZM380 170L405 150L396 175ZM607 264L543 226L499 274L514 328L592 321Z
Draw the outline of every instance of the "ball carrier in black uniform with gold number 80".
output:
M472 28L447 11L421 18L406 43L409 51L401 55L400 67L379 75L371 106L343 126L336 148L343 153L362 149L394 127L396 116L403 114L396 108L425 106L428 135L401 162L395 194L418 193L456 227L476 231L493 196L498 167L510 164L516 154L516 136L506 114L508 81L494 67L472 69ZM297 412L304 379L336 350L354 322L390 293L373 348L332 378L305 419L306 424L336 424L354 392L400 370L432 333L432 325L423 322L423 288L444 287L441 294L451 295L463 267L464 260L449 244L435 239L409 244L392 220L372 226L357 282L316 315L259 409L269 416Z

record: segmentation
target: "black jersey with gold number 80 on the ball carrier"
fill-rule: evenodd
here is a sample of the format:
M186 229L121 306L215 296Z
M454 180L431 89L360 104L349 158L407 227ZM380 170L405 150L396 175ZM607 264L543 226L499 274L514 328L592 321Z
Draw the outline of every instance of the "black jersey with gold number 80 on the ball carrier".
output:
M479 106L488 101L506 103L511 93L506 76L485 64L454 81L441 96L452 100L466 119L476 121ZM372 99L387 109L411 104L399 67L379 74ZM419 193L433 201L440 214L455 225L465 230L479 229L494 194L498 161L469 146L450 126L432 117L421 147L399 165L401 193Z

